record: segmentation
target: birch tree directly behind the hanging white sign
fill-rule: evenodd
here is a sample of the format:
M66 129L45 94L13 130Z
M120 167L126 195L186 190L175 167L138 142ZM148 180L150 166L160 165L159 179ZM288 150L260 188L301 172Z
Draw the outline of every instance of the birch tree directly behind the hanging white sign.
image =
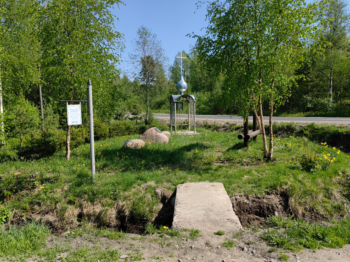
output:
M106 83L117 73L123 35L114 30L111 8L120 0L49 0L42 26L41 75L49 83L52 98L80 100L86 97L90 78L94 90L107 96ZM96 104L94 96L94 103ZM62 106L65 106L62 104ZM70 159L67 125L66 160Z

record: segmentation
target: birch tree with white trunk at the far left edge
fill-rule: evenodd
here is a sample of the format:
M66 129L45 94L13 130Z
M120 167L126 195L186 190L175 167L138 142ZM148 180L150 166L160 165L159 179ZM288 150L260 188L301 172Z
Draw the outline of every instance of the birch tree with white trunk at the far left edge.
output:
M19 94L37 79L37 11L38 1L0 1L0 148L5 145L4 98Z

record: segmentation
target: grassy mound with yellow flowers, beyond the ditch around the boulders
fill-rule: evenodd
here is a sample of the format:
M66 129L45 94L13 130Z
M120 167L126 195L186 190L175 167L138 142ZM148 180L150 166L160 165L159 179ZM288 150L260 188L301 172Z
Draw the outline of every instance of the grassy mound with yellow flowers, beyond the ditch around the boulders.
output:
M88 170L87 144L72 149L68 162L62 151L41 160L3 161L2 201L17 214L52 208L61 219L76 219L76 209L99 202L100 221L117 204L128 216L152 220L160 203L155 201L155 188L174 190L185 182L216 181L229 195L283 193L298 217L304 212L325 217L345 212L350 160L343 152L303 143L301 138L275 138L275 161L266 163L260 137L243 148L236 133L199 131L195 137L172 136L169 144L147 144L134 151L123 144L138 136L97 141L95 184Z

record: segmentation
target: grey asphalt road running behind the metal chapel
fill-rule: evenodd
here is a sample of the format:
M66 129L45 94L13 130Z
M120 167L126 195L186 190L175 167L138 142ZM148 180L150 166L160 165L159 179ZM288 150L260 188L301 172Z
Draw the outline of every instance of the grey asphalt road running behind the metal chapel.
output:
M168 114L154 114L157 117L170 117ZM196 115L196 119L203 118L206 119L237 119L242 120L241 116L216 116L216 115ZM264 120L268 119L268 116L264 116ZM253 117L250 116L249 120L253 120ZM288 121L288 122L298 122L298 121L306 121L306 122L350 122L350 117L292 117L292 116L274 116L274 121Z

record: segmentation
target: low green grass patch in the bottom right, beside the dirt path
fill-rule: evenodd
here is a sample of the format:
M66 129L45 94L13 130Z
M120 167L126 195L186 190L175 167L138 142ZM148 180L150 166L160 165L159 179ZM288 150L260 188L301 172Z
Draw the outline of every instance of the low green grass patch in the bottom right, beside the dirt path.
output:
M270 229L260 236L269 246L298 251L302 248L339 248L350 241L350 220L348 219L329 226L303 220L288 219L288 223L281 220L283 218L275 216L269 218L269 225L278 228ZM286 229L282 230L282 227Z

